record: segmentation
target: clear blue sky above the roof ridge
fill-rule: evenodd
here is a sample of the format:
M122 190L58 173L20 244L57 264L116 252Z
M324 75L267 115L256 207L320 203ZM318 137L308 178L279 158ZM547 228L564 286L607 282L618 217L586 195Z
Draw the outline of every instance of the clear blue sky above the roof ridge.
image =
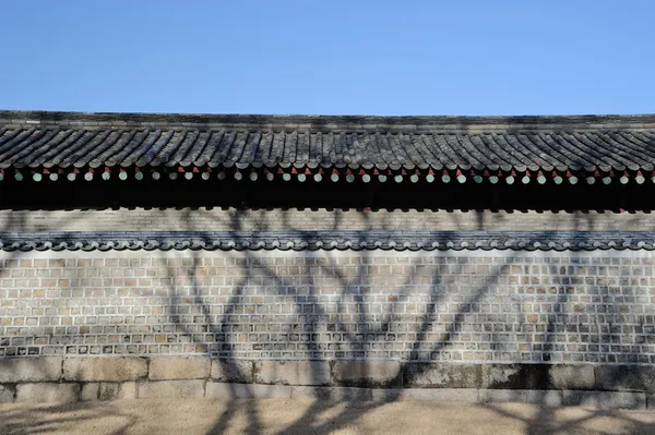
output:
M652 0L5 0L0 109L655 112Z

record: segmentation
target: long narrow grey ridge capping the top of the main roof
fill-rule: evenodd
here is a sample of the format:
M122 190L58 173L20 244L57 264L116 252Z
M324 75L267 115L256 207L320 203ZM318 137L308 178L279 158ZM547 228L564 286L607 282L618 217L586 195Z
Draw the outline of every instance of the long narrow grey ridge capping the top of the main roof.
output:
M195 126L294 130L655 129L655 113L571 116L309 116L0 110L0 124Z

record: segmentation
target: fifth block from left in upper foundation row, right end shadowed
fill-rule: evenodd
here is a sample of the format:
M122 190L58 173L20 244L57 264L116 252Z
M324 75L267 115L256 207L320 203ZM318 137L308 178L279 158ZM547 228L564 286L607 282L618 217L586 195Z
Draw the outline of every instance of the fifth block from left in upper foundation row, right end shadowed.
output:
M258 384L330 385L327 361L261 361L254 362Z

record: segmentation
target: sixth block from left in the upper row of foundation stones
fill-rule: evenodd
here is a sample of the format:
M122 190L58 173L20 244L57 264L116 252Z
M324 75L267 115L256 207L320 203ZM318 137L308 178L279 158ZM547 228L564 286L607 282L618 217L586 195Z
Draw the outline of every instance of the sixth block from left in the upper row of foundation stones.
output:
M397 361L336 361L333 375L337 384L347 386L400 386L402 382Z

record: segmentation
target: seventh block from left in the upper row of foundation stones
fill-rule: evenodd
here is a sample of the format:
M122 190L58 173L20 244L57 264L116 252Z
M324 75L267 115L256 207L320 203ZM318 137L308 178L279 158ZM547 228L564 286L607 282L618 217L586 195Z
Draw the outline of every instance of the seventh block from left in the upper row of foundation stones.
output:
M408 387L479 388L483 382L480 364L409 363L404 367Z

